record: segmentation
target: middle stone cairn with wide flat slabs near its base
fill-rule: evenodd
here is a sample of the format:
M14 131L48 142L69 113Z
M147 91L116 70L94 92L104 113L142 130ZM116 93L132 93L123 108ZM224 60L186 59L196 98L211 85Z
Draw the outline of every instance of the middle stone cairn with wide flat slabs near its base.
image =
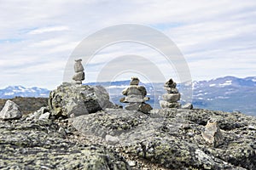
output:
M139 82L137 77L131 77L130 87L122 91L122 94L126 97L121 98L120 102L128 103L128 105L125 106L126 110L148 113L148 111L152 110L152 107L145 103L145 101L149 100L149 98L146 97L147 90L145 87L139 86Z

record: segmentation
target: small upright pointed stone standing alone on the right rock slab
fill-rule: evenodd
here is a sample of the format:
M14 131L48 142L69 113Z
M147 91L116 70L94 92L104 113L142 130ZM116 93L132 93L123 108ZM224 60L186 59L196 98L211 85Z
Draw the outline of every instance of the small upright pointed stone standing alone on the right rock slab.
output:
M209 120L204 132L201 134L209 144L212 144L212 147L217 147L219 144L223 143L223 137L216 120Z

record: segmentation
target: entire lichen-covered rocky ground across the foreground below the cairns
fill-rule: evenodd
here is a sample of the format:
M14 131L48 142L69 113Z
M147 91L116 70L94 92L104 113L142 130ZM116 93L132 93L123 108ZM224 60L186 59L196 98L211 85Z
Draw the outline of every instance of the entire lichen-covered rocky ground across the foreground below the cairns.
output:
M256 118L222 111L106 109L55 119L48 108L0 123L1 169L255 169ZM44 115L44 116L42 116ZM45 116L47 115L47 116ZM202 138L210 117L223 143Z

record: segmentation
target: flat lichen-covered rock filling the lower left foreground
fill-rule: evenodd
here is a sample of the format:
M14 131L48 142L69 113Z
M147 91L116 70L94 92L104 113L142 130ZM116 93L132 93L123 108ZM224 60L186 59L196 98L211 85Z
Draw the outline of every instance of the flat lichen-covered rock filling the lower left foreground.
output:
M99 144L80 143L62 122L0 122L0 169L128 170L128 163Z

